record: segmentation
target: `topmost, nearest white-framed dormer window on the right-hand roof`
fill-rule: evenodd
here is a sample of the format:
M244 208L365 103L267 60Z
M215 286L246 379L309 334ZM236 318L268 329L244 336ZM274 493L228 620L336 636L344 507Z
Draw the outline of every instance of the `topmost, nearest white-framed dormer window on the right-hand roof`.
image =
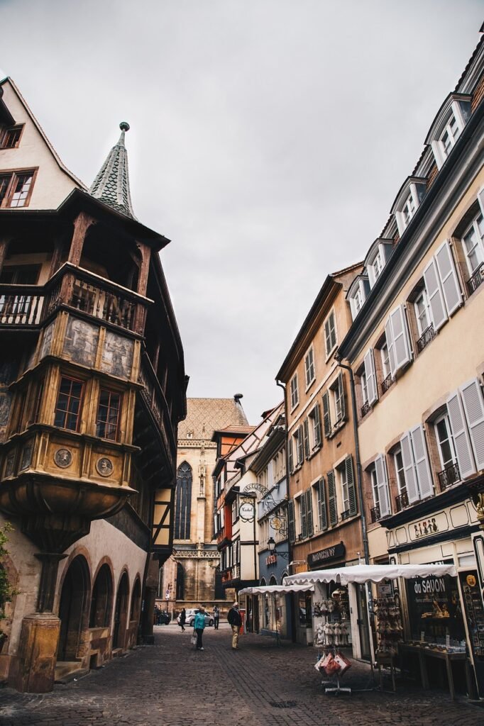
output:
M457 139L464 130L471 113L471 97L450 94L440 107L425 139L432 146L437 168L442 168Z

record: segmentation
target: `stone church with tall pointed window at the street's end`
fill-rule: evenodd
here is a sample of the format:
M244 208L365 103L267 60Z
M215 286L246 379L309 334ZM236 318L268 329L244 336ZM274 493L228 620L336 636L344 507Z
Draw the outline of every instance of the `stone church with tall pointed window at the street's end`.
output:
M199 604L225 612L217 539L214 537L214 431L248 426L240 394L233 399L187 399L180 423L177 490L174 506L174 552L160 570L158 605L172 615Z

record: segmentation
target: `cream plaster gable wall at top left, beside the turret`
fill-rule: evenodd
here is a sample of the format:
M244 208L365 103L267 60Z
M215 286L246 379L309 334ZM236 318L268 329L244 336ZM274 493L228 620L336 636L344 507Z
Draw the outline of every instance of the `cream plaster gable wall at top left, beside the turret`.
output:
M78 184L60 168L9 81L2 87L15 123L25 123L25 128L17 149L0 150L0 169L39 167L28 208L56 209Z

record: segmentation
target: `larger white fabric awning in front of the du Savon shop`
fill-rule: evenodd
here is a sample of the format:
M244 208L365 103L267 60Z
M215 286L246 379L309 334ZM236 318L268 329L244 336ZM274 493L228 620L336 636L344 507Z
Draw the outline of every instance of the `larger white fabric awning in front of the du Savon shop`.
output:
M428 577L435 575L443 577L451 575L456 577L457 570L454 565L352 565L332 570L315 570L312 572L299 572L284 578L285 585L309 584L314 582L338 582L347 585L350 582L363 584L363 582L382 582L382 580L395 580L398 577L410 579L411 577Z

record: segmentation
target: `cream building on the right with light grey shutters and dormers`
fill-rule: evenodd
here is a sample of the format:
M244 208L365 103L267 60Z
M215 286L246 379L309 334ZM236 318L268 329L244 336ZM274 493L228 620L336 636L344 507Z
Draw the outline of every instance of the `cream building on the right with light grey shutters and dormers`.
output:
M371 562L455 564L456 578L411 581L398 597L408 639L467 643L480 696L483 97L481 40L368 251L339 347L355 372Z

